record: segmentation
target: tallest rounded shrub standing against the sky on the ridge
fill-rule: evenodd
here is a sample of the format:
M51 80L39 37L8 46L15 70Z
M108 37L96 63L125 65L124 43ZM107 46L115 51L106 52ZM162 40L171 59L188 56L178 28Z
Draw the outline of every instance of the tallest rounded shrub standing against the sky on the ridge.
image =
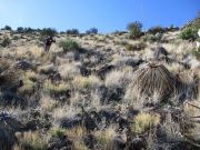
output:
M142 23L140 23L139 21L128 24L127 29L129 30L130 39L140 38L142 34Z

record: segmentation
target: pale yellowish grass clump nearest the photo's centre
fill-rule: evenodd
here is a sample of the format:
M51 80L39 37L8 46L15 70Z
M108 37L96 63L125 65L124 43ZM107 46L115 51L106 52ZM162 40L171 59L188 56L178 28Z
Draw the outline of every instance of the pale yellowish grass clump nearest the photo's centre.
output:
M101 86L101 81L96 76L89 76L89 77L78 76L74 77L72 84L74 89L79 89L79 90L97 89Z

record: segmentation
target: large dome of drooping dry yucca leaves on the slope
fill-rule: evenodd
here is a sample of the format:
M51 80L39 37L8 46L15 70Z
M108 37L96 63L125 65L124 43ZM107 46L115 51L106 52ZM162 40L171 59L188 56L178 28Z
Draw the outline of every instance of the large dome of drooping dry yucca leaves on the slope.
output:
M176 80L164 66L150 62L133 73L131 88L139 97L157 96L158 100L163 100L174 91Z

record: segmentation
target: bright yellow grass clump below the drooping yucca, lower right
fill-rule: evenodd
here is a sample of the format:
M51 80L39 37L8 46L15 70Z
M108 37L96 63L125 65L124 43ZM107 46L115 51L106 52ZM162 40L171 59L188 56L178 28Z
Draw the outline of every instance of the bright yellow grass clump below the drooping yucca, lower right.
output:
M157 127L160 123L160 116L158 113L139 113L133 124L131 126L131 130L136 133L142 133L143 131L150 130Z

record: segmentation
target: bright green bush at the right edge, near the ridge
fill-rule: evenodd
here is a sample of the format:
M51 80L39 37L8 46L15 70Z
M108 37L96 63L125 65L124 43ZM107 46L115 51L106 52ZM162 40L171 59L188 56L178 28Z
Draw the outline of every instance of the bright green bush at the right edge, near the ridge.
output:
M196 28L187 28L181 31L179 36L182 40L196 40L198 38L198 29Z

